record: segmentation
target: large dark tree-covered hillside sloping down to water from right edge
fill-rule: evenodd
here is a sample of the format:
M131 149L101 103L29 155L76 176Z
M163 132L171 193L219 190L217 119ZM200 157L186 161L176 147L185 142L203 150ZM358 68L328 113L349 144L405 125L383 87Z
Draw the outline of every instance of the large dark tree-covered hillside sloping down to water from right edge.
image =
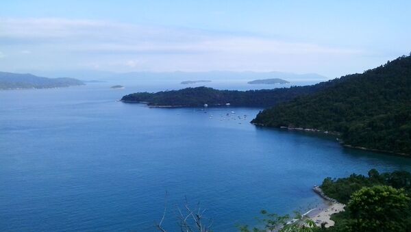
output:
M411 154L411 56L265 109L252 123L338 131L347 145Z

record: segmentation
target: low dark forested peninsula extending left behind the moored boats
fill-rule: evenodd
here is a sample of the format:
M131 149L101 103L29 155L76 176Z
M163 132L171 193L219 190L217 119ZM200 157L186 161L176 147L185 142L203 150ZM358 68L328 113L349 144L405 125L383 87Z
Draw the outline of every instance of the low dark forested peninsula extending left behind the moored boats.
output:
M207 87L184 88L162 92L137 92L123 96L121 101L144 102L148 105L169 105L183 107L199 107L225 105L248 107L270 107L277 103L290 101L297 96L312 94L334 86L340 80L325 81L312 86L294 86L291 88L275 88L272 90L215 90Z

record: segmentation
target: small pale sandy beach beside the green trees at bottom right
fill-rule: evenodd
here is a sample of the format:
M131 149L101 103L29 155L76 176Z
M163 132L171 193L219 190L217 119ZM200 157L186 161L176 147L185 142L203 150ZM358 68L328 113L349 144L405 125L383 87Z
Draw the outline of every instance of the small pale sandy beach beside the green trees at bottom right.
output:
M341 211L345 211L345 205L343 203L339 203L333 198L329 198L324 194L323 190L321 190L319 186L314 186L312 190L325 200L327 206L316 209L315 211L309 211L307 213L308 218L313 220L317 227L321 227L321 223L323 222L325 222L325 227L333 227L335 222L331 220L332 214L338 214ZM313 213L310 214L311 212Z

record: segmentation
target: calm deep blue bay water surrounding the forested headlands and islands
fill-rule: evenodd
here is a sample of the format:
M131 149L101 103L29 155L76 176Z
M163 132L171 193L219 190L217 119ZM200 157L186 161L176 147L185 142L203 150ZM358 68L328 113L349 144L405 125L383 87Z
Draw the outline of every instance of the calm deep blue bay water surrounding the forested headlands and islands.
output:
M260 209L286 214L321 204L311 188L325 177L410 170L411 159L254 127L259 109L116 101L182 86L113 84L0 92L2 231L155 231L166 192L169 231L185 196L208 209L215 231L235 231Z

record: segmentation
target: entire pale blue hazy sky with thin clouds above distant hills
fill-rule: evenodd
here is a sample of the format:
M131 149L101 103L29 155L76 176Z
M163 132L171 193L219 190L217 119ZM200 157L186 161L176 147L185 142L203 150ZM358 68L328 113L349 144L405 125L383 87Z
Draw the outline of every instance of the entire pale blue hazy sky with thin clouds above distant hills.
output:
M0 70L362 72L411 51L411 1L1 1Z

